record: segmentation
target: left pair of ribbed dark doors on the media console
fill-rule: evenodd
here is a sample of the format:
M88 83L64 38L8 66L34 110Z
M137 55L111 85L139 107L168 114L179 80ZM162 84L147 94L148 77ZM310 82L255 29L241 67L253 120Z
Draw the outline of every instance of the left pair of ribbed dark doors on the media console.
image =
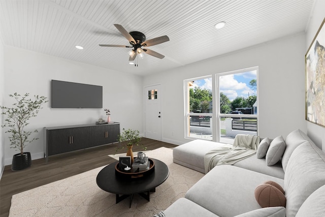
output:
M49 130L48 155L85 148L89 143L89 128Z

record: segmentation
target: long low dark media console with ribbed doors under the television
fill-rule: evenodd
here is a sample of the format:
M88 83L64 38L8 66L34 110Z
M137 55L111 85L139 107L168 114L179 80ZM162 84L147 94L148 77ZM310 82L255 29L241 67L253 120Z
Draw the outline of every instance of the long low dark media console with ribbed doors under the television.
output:
M117 142L120 123L44 128L44 157Z

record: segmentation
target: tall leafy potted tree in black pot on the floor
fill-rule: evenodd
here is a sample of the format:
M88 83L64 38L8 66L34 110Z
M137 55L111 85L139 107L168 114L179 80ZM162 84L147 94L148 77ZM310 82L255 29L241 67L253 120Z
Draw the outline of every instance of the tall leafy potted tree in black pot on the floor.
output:
M20 150L20 153L17 153L13 156L12 159L12 170L18 171L23 170L31 165L30 152L24 152L24 147L29 143L39 138L30 138L31 131L25 131L24 127L29 125L28 120L31 117L35 117L40 109L41 105L48 102L46 97L34 96L35 100L32 101L28 98L29 94L25 94L22 97L15 93L9 95L16 100L13 104L13 107L0 106L3 109L2 114L7 115L5 123L2 127L9 127L9 130L6 133L11 133L9 136L11 148ZM35 130L34 133L38 132Z

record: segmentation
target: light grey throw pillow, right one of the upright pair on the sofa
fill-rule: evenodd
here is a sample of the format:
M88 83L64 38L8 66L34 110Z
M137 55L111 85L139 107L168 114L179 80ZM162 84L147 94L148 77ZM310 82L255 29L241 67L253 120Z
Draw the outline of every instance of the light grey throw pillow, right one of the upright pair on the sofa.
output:
M270 143L268 152L266 152L266 163L272 166L280 161L285 150L285 143L282 136L278 136Z

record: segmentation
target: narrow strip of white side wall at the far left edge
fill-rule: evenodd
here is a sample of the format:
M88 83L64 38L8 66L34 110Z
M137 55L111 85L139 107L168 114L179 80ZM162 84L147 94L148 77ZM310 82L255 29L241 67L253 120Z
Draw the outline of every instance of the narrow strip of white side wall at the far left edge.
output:
M0 40L0 105L3 105L4 96L4 45L2 40ZM2 113L2 111L0 111ZM0 123L4 120L3 115L0 116ZM4 140L4 130L0 128L0 179L2 173L5 169L5 140Z

